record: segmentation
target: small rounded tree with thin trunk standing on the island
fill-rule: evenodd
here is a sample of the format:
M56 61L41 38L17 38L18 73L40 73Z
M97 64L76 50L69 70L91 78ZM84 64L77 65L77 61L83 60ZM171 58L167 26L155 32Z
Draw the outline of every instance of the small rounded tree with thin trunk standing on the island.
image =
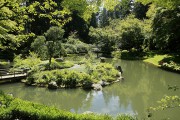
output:
M51 27L45 33L47 54L49 58L49 68L51 65L52 57L55 57L61 50L61 42L63 40L64 30L61 27Z

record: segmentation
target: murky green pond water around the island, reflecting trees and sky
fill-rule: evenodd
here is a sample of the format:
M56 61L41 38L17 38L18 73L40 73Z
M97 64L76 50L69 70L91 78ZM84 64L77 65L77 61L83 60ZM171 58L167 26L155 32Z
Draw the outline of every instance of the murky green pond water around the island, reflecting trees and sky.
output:
M108 60L109 62L111 60ZM117 114L135 114L141 120L147 118L147 108L157 106L164 95L178 95L180 90L168 90L168 85L180 87L180 74L167 72L142 61L119 60L124 81L103 88L102 91L58 89L25 86L23 83L0 85L0 90L12 93L14 97L42 103L75 113L92 111ZM72 69L83 71L80 66ZM153 120L179 120L180 108L153 112Z

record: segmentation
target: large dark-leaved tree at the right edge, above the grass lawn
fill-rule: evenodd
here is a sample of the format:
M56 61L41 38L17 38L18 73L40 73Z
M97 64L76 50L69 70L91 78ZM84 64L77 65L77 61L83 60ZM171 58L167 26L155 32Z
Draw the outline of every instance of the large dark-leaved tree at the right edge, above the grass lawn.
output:
M156 47L160 50L180 51L180 8L159 8L153 19Z

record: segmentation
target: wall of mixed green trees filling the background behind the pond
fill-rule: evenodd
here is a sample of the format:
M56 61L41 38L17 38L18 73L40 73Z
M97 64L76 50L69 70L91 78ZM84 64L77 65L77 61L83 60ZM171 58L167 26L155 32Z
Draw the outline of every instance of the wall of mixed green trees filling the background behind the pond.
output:
M179 4L178 0L1 0L0 57L13 59L14 53L27 55L30 50L43 56L36 46L50 41L45 32L52 26L62 28L61 54L87 52L84 43L105 54L119 49L138 54L179 52Z

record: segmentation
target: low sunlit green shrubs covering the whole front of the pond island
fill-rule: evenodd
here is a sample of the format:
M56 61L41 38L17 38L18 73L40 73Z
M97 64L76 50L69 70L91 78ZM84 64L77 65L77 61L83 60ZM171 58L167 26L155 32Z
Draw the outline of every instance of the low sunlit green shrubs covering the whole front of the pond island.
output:
M56 82L60 88L91 88L93 83L98 83L99 81L112 83L120 77L118 76L118 71L108 63L91 66L89 74L69 69L60 70L57 69L57 65L54 68L56 68L56 70L31 71L26 83L36 84L37 86L47 86L51 82Z

